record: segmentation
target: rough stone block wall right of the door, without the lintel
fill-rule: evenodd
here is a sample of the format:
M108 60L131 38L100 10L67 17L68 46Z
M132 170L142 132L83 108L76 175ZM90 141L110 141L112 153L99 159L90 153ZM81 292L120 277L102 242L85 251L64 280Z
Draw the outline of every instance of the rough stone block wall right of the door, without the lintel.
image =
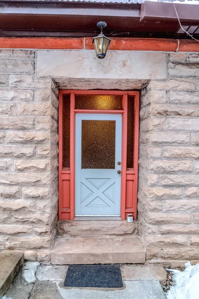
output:
M199 260L199 54L167 66L142 90L138 218L147 259L178 265Z

